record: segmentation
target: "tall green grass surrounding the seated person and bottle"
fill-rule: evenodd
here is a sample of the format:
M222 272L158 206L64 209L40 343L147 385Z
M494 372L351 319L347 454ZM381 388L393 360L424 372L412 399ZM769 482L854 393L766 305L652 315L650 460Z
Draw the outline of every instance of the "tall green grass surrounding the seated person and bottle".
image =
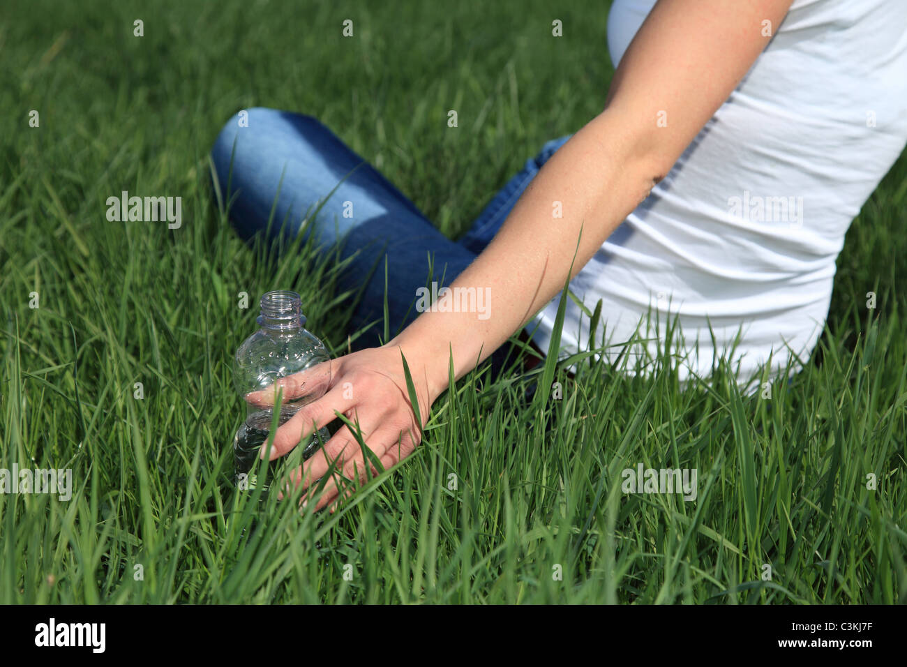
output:
M297 289L335 354L348 309L331 262L229 230L206 157L221 125L316 115L454 235L600 110L607 6L133 5L13 0L0 24L0 467L76 486L0 495L0 603L904 601L907 158L848 234L819 351L770 400L588 362L575 381L471 376L336 514L256 516L229 486L255 299ZM181 196L182 227L106 221L122 190ZM563 397L527 405L539 378ZM697 468L697 501L621 493L638 463Z

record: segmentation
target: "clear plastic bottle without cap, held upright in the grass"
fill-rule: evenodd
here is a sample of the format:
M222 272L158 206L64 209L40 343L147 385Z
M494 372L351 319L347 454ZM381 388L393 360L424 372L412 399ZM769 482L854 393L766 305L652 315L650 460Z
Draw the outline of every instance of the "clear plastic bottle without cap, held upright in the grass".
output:
M261 314L256 321L261 329L246 338L236 351L233 379L239 396L246 397L249 392L270 387L279 378L330 359L324 343L304 328L306 318L301 312L301 301L296 292L280 290L265 294L261 298ZM289 392L288 396L285 390L278 426L293 417L300 407L324 396L330 379L330 364L323 364L323 368L317 369L314 375L305 376L305 383L297 387L297 391ZM249 403L246 406L248 414L233 440L233 455L237 486L252 489L258 486L258 453L268 440L274 411ZM329 434L326 428L321 429L320 436L322 440L327 440ZM304 461L317 450L317 436L313 434L299 447L302 448L301 460ZM266 478L261 480L265 490L272 481L278 461L271 462Z

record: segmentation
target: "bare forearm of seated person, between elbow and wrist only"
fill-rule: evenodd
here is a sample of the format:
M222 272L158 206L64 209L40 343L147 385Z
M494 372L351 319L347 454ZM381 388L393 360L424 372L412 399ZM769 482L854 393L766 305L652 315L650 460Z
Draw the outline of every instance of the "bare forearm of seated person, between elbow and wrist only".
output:
M447 386L451 353L460 378L532 319L645 199L658 172L657 161L639 152L634 134L607 111L554 153L494 240L450 286L483 290L487 309L424 312L391 341L411 368L424 370L429 396Z

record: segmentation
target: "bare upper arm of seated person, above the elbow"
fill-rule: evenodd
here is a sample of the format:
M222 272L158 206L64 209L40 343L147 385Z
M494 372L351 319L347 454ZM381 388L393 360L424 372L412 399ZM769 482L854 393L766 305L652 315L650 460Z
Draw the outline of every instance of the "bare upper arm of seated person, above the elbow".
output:
M727 100L792 2L658 0L620 60L602 113L649 157L654 179Z

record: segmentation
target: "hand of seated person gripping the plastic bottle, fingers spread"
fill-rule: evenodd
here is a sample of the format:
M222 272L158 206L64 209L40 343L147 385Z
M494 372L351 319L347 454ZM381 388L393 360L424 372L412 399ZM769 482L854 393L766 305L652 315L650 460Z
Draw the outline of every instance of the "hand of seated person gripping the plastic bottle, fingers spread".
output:
M311 393L313 380L317 383L320 378L326 378L323 368L325 364L330 364L331 371L327 392L323 397L299 408L286 424L278 428L271 446L270 460L286 455L300 440L312 435L318 428L327 426L336 419L336 413L358 425L366 446L375 453L385 469L395 466L412 454L422 439L422 433L406 388L401 349L393 343L331 359L281 378L271 387L250 393L246 400L256 407L272 407L278 389L283 389L285 402L305 396ZM429 408L440 391L430 389L420 362L407 358L407 364L410 365L421 413L419 419L424 424ZM267 448L267 443L262 446L262 458L268 456ZM332 503L341 492L347 495L350 493L351 489L343 488L346 485L338 474L359 482L366 480L363 452L349 427L340 428L323 448L313 454L303 466L294 470L290 474L290 481L294 485L301 485L303 489L311 487L314 491L314 482L325 476L332 464L332 478L327 480L315 509ZM374 465L370 464L369 467L373 474L377 472ZM303 505L307 505L310 499L311 495L308 495Z

